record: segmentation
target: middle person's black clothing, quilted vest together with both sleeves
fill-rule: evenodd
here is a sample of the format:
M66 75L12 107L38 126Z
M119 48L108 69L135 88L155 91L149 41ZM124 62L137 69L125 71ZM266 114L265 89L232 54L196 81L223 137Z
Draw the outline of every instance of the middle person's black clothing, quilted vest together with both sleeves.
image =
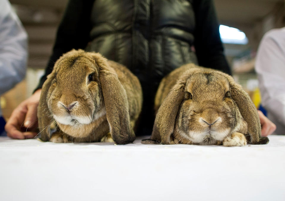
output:
M143 135L151 134L156 89L170 71L194 62L230 73L211 0L70 0L38 88L72 48L100 52L140 79Z

